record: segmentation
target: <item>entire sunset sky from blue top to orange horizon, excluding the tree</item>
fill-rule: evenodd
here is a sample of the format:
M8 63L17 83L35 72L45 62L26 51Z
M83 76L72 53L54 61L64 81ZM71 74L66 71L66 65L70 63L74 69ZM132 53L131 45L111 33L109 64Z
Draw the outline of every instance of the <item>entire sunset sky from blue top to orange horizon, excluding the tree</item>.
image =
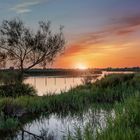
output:
M140 66L140 0L0 0L0 23L21 17L36 28L64 25L66 50L53 67Z

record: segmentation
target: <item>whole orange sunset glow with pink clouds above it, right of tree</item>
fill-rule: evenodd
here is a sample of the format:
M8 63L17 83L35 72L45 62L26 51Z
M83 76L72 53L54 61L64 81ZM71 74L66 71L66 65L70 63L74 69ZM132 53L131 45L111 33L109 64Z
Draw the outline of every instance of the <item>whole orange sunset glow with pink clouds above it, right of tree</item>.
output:
M83 69L140 67L140 20L139 24L137 22L133 18L119 22L114 27L104 27L99 32L79 35L79 38L69 43L64 55L60 56L53 66ZM130 27L131 31L128 31ZM75 66L75 63L79 66Z

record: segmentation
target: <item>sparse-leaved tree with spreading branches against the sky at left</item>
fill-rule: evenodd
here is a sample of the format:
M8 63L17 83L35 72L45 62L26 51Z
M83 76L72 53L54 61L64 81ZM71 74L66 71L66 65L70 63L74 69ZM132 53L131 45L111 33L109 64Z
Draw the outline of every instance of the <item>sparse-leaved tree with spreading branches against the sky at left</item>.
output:
M52 62L64 49L62 27L52 33L50 22L39 22L38 29L32 31L19 18L4 20L0 27L0 52L5 59L21 73L36 65Z

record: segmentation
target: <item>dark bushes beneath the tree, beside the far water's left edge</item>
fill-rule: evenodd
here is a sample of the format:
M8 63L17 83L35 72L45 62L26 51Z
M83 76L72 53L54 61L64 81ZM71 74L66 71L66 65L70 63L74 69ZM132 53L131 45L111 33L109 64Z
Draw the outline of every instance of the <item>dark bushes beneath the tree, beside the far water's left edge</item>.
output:
M0 98L1 97L19 97L19 96L35 96L35 89L24 84L23 77L18 72L1 72L0 73Z

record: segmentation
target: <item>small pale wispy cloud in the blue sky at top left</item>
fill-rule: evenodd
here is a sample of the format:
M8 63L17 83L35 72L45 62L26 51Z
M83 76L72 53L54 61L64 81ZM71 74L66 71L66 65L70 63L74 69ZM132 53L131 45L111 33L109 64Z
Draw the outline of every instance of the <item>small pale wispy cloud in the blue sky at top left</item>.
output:
M12 11L16 13L28 13L31 12L31 7L38 5L42 2L42 0L29 0L26 2L19 3L11 8Z

